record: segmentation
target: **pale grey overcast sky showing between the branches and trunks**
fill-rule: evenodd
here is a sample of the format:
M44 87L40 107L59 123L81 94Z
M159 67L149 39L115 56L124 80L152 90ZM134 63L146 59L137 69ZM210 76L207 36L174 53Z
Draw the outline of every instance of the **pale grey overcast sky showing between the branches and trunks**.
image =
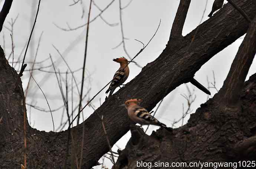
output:
M126 6L129 1L130 0L122 0L122 6ZM214 0L208 0L203 21L208 19L207 15L211 11L213 1ZM35 68L50 65L51 62L49 60L49 54L51 54L57 69L59 69L61 72L66 72L68 70L67 66L52 45L58 48L72 70L82 68L85 51L85 27L74 31L63 31L54 25L55 23L59 27L68 29L67 23L71 28L85 24L88 17L89 0L83 0L82 2L82 4L79 2L73 6L69 6L73 3L73 0L41 1L36 27L33 32L32 41L30 42L29 51L25 62L33 61L40 34L43 32L36 62L43 61L47 58L48 60L41 64L36 64ZM95 0L95 3L102 9L105 8L110 2L111 0ZM186 35L188 32L197 27L203 15L206 2L206 0L191 1L183 29L183 35ZM4 23L5 27L0 34L1 46L4 48L7 58L12 52L12 41L10 38L11 26L8 22L11 23L12 20L18 16L16 22L13 25L14 61L17 61L20 53L22 52L22 49L24 48L24 45L26 45L26 42L29 38L31 27L35 19L37 3L38 0L13 1L10 13L8 14ZM127 8L122 10L124 35L125 38L128 38L125 40L125 45L129 55L132 57L137 54L137 52L142 47L141 44L134 39L138 39L144 43L147 43L157 29L158 23L161 19L160 28L154 39L151 41L148 47L135 59L135 61L138 62L142 67L147 63L154 61L165 48L165 45L167 44L170 36L171 25L178 8L178 4L178 0L133 0ZM2 5L3 1L1 1L1 6ZM83 9L84 15L82 17ZM100 11L94 5L92 5L91 19L98 15L99 12ZM119 20L119 1L115 0L114 3L111 4L111 6L102 14L102 17L108 23L114 24L116 26L109 26L100 17L98 17L90 24L88 53L86 58L86 80L84 85L85 90L83 93L87 93L89 89L91 90L83 102L83 105L85 105L88 99L91 99L100 89L102 89L102 87L104 87L109 82L109 80L111 80L115 71L119 68L119 64L113 62L112 59L120 56L127 58L122 45L116 49L112 49L122 40ZM217 89L220 89L242 40L243 38L237 39L237 41L232 45L228 46L226 49L219 52L219 54L210 59L210 61L204 64L196 73L195 79L207 87L207 76L209 77L210 82L213 82L212 71L214 71L216 87ZM23 55L24 52L22 53L22 58ZM10 64L12 64L11 62L12 57L9 59ZM29 64L26 70L31 68L32 64ZM133 63L129 64L129 68L130 75L125 83L129 82L141 71L141 68ZM18 65L16 65L15 69L18 70ZM53 71L52 67L44 68L42 70ZM248 77L255 72L256 62L254 60L246 79L248 79ZM63 101L55 74L46 73L39 70L34 70L33 73L34 78L45 92L51 109L53 110L62 106ZM77 82L81 82L81 73L81 70L74 73ZM24 76L22 77L22 81L23 89L25 90L30 74L29 72L24 72L23 74ZM65 78L65 74L63 74L63 78ZM35 82L32 80L30 83L30 89L26 102L48 110L49 108L47 107L47 103L42 93L35 85ZM68 84L71 85L70 74L68 75ZM191 86L189 83L188 87L191 90L194 88L194 86ZM206 94L199 91L197 88L194 90L196 100L191 107L193 110L192 113L196 111L200 104L205 103L207 100ZM75 101L75 106L78 104L79 96L76 88L74 88L73 91L73 100ZM210 89L210 92L213 96L216 93L216 90ZM181 94L187 94L185 84L177 87L173 92L164 98L160 109L155 115L158 120L160 120L162 123L165 123L167 126L171 126L174 120L177 120L182 116L182 104L184 104L185 109L187 108L186 100L181 96ZM69 93L69 96L71 99L71 92ZM103 102L105 100L105 96L106 95L104 90L92 101L95 108L99 107L100 98ZM92 113L92 108L88 107L84 111L84 116L87 118ZM30 115L28 119L30 119L32 123L31 125L33 125L33 127L37 130L53 130L50 113L38 111L34 108L30 108L30 106L27 106L27 114ZM55 128L59 127L61 117L62 109L53 112ZM185 123L188 118L189 115L187 115L185 118ZM63 118L63 121L65 120L66 114ZM175 125L175 127L179 127L180 125L181 123L178 123ZM148 134L157 128L158 127L151 126L148 130ZM116 145L123 149L129 137L130 134L128 132L128 134L122 137L122 139L120 139ZM116 149L117 147L114 146L113 150L116 151ZM111 166L111 163L108 161L106 162L106 165Z

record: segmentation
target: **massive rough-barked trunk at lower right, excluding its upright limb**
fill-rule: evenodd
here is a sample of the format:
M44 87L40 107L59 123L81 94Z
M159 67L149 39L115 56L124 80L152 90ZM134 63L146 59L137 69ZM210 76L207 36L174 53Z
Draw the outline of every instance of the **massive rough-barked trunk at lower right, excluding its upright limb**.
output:
M255 160L256 138L250 127L256 125L256 74L244 83L240 99L241 111L223 111L219 100L214 97L201 104L196 113L191 114L188 123L174 130L173 135L159 129L151 136L145 135L143 144L134 145L130 139L126 148L119 153L113 168L135 169L137 161L188 163L199 160Z

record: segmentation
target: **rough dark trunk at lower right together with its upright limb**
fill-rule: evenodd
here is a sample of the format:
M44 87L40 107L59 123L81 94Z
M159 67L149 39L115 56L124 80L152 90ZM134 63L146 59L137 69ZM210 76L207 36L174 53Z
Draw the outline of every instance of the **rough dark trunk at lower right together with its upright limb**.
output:
M132 129L113 168L137 168L137 162L238 162L256 157L256 73L244 82L256 54L256 17L239 47L220 91L201 104L188 123L170 135L151 136ZM243 90L242 90L243 89ZM133 140L140 140L134 142ZM136 144L139 142L139 144ZM140 144L143 143L143 144ZM143 168L143 167L140 167ZM145 167L147 168L147 167ZM154 167L152 167L154 168ZM157 168L157 167L156 167ZM184 167L185 168L185 167Z

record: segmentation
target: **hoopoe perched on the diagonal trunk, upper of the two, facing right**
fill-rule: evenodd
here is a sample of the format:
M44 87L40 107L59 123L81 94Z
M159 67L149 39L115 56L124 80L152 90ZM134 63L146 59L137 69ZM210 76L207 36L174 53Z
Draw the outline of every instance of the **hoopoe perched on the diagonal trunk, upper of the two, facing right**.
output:
M106 91L106 93L108 93L110 91L109 96L111 96L113 94L116 87L120 86L128 78L128 76L129 76L128 63L133 62L133 61L128 61L124 57L113 59L113 61L120 63L120 68L115 72L113 80L110 83L108 90ZM134 63L136 63L136 62L134 62Z

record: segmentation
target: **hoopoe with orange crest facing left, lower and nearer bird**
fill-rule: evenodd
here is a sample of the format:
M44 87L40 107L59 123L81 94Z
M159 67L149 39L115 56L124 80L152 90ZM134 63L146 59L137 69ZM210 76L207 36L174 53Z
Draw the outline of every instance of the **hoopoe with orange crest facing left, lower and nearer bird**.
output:
M141 101L141 99L130 99L125 101L125 103L121 105L125 106L128 111L128 116L132 121L141 125L157 125L165 128L168 131L172 131L172 128L166 127L165 124L161 123L150 113L148 113L145 108L140 107L138 103L140 103Z

